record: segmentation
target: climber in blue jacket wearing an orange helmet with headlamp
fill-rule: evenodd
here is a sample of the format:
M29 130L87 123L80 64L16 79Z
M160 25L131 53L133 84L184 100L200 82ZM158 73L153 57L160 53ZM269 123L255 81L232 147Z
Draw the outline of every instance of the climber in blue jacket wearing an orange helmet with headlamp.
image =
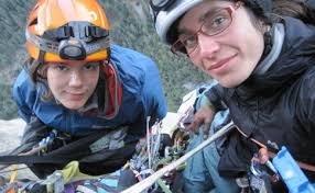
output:
M155 64L110 44L109 30L96 0L39 0L31 11L25 32L30 59L13 89L28 123L23 148L15 154L56 130L48 150L41 152L50 159L29 162L40 178L72 160L88 174L119 169L144 136L146 117L151 126L166 114Z

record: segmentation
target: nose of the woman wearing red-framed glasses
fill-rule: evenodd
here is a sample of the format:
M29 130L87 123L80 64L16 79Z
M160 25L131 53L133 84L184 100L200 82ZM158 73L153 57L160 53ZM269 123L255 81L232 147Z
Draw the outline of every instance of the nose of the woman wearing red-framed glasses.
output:
M220 48L219 43L211 36L198 33L198 47L202 57L211 57Z

